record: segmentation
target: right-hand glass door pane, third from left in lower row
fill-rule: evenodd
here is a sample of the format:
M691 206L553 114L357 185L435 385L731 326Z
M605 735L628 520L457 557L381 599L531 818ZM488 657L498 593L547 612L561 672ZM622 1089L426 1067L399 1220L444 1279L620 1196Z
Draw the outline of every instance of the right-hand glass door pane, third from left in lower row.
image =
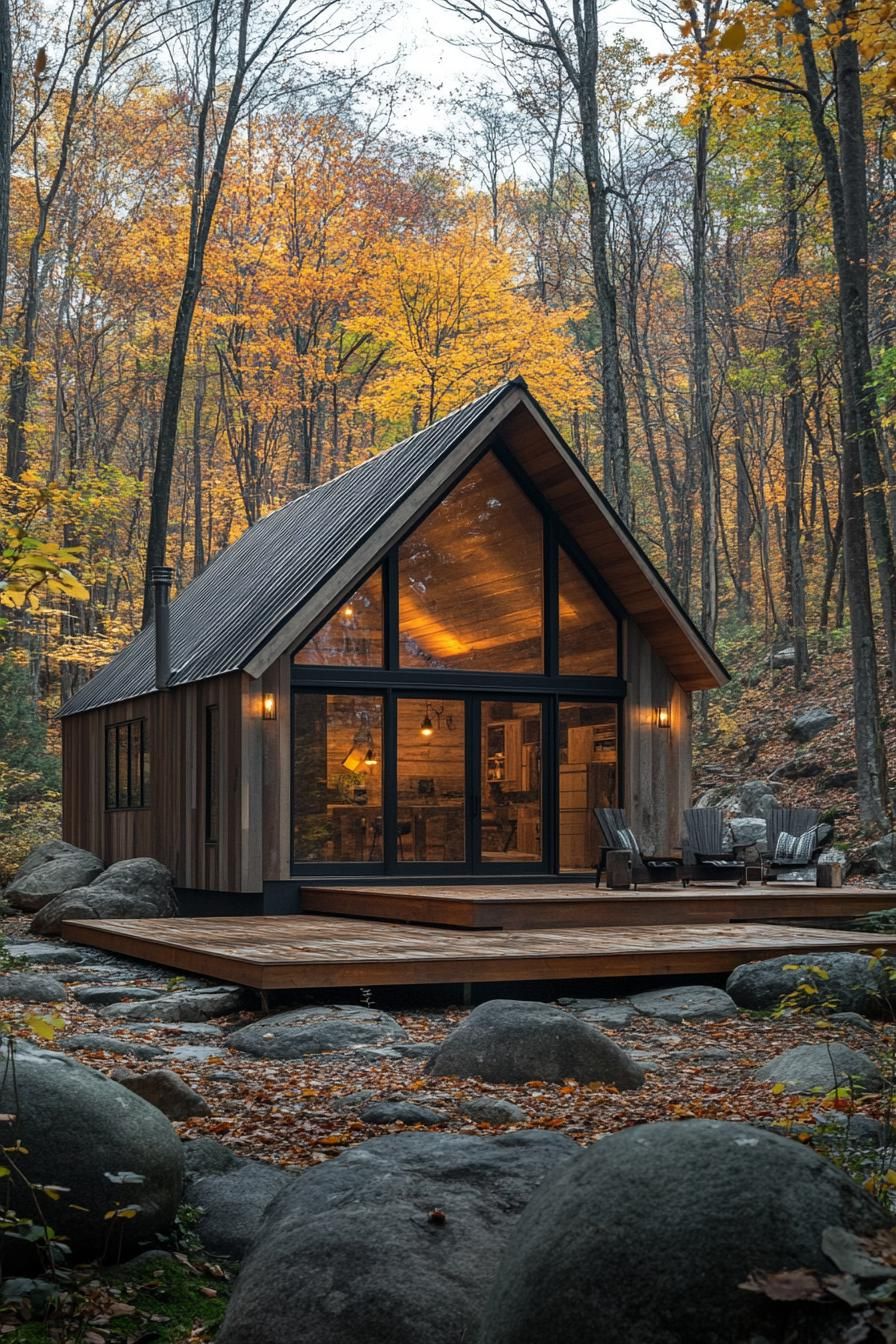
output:
M544 859L544 712L539 700L480 703L480 860Z

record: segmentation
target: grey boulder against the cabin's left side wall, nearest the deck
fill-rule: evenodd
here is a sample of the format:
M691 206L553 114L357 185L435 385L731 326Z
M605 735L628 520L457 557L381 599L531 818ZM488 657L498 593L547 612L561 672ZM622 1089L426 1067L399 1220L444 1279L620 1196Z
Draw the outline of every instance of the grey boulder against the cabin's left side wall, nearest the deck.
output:
M156 859L124 859L90 886L71 886L38 910L32 933L59 934L66 919L169 919L177 914L171 872Z

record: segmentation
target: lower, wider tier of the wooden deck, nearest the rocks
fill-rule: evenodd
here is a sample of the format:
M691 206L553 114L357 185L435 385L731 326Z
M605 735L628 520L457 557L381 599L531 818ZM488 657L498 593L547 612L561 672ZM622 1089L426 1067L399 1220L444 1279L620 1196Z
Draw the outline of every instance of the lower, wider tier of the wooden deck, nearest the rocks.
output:
M896 948L896 937L759 923L469 931L321 915L73 919L63 935L255 989L705 974L785 953Z

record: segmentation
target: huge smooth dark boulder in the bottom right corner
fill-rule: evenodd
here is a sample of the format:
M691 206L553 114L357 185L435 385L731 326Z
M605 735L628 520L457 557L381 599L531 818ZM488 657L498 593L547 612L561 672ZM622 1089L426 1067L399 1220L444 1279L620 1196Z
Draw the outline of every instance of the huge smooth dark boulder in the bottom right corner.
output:
M836 1273L822 1250L830 1228L891 1224L790 1138L731 1121L637 1125L544 1181L513 1230L478 1340L819 1341L829 1309L819 1318L815 1302L772 1302L742 1285L756 1270Z

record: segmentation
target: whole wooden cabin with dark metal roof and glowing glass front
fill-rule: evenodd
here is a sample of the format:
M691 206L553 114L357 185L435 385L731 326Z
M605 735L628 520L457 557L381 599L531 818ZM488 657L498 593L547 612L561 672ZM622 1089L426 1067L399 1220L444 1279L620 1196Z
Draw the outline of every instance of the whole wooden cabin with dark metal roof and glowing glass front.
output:
M164 575L161 575L164 583ZM197 913L680 839L727 673L521 380L249 528L62 710L64 837ZM159 638L157 638L159 636Z

